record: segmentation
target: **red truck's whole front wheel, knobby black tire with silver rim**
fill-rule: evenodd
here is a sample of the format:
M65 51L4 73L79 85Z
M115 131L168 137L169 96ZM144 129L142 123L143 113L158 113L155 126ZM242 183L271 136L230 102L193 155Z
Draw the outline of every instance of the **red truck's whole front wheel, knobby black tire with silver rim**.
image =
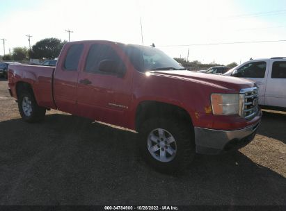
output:
M165 173L185 171L196 153L190 124L176 119L148 119L140 133L143 158Z

